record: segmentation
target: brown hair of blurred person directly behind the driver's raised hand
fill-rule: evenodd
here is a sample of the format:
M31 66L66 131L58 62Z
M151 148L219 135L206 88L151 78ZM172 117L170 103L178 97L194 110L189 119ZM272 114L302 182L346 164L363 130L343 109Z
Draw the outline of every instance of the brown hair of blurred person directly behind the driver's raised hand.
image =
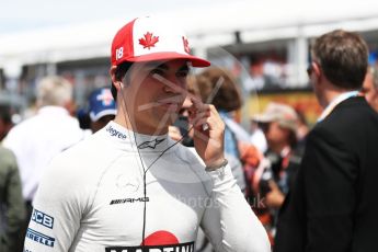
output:
M216 93L214 89L224 79L219 90ZM214 95L211 104L218 110L231 112L239 110L242 105L242 99L237 83L237 78L227 69L207 68L197 76L197 87L203 102L207 102L210 95Z

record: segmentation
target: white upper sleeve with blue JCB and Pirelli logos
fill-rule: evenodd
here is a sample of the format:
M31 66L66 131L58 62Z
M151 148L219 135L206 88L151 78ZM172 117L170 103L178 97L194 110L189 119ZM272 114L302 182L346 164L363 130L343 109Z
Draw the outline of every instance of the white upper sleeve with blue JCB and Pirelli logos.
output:
M62 159L53 160L33 202L24 252L67 252L80 227L83 204L78 174Z

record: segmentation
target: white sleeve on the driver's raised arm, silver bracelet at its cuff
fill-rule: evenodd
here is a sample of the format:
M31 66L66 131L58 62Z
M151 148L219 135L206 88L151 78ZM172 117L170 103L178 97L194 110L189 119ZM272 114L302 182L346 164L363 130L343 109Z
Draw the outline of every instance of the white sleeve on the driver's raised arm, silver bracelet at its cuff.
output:
M202 227L217 252L270 252L266 231L244 199L229 165L208 172L211 202Z

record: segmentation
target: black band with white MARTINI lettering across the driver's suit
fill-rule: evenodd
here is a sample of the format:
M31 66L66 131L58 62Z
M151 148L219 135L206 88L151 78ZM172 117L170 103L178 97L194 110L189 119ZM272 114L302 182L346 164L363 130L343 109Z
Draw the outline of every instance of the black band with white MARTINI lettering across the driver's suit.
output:
M194 242L172 245L108 247L105 252L194 252Z

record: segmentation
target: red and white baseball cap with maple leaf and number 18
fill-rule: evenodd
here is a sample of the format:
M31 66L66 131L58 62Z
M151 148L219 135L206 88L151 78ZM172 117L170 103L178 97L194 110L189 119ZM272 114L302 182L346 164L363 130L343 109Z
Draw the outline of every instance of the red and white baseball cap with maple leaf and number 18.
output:
M112 43L112 66L124 61L142 62L187 59L193 67L210 62L191 55L188 41L174 23L157 18L138 18L123 26Z

